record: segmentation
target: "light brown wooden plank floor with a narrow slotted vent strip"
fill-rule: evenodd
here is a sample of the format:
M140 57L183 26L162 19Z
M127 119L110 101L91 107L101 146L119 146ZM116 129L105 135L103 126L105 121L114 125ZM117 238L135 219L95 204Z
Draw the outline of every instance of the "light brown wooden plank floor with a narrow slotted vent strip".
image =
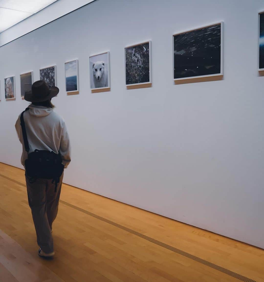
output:
M69 185L44 260L23 170L0 163L0 199L1 282L264 282L263 250Z

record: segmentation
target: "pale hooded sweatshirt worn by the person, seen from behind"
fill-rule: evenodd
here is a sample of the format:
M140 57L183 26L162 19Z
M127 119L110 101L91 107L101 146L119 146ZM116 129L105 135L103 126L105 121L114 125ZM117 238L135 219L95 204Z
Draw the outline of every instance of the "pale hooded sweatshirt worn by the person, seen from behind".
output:
M71 146L64 119L51 108L35 105L29 105L28 107L30 109L24 113L24 121L29 153L32 153L35 149L53 151L56 154L60 153L62 163L67 168L71 161ZM23 146L21 164L24 166L28 153L24 147L20 115L15 123L15 129Z

